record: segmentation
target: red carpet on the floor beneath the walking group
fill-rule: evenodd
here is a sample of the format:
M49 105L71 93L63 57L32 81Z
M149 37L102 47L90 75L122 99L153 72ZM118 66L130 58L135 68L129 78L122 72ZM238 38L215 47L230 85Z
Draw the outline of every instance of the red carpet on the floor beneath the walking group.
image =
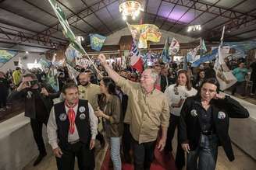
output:
M105 160L101 165L101 170L110 170L109 162L111 161L110 152L107 151L105 155ZM133 170L133 165L123 163L123 170ZM172 154L165 155L162 152L159 152L158 149L155 149L155 161L151 164L151 170L176 170L175 161Z

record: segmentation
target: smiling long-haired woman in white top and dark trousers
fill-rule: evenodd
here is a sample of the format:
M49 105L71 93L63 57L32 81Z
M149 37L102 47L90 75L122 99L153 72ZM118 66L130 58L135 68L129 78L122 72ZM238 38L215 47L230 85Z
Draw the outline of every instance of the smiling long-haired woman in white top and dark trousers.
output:
M187 97L196 94L197 90L192 88L190 76L188 75L186 70L178 71L178 78L176 80L176 84L169 85L169 87L166 88L165 95L169 100L170 108L170 120L167 131L167 140L165 144L166 154L172 151L172 138L174 136L175 129L180 122L180 110L183 106L183 102L185 99L187 99ZM178 147L176 151L176 167L178 169L182 169L183 165L185 165L185 155L180 143L178 142Z

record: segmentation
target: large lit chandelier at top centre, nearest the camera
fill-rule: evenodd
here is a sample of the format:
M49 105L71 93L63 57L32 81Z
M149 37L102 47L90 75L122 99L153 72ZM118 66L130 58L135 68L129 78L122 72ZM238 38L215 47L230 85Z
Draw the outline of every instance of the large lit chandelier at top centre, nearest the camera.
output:
M123 20L126 20L127 16L136 19L140 15L140 11L144 11L141 1L120 1L119 12L121 12Z

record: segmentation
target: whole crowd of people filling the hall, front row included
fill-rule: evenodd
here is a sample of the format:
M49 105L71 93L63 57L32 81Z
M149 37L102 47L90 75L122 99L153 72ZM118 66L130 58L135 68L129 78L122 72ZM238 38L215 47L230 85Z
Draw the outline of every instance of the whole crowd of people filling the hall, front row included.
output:
M185 154L187 169L215 169L219 145L233 161L229 118L247 118L249 113L236 100L219 94L214 63L198 68L188 64L183 70L183 63L156 61L139 73L110 65L104 54L98 61L97 72L76 66L76 81L69 78L67 68L58 68L59 92L44 81L46 73L40 69L0 72L1 109L8 109L7 98L25 103L39 151L34 166L47 154L43 124L59 170L73 169L75 157L80 170L94 169L95 140L101 147L108 143L115 170L122 169L123 161L133 162L135 170L150 169L155 147L166 157L172 153L176 127L177 169L186 165ZM244 61L226 64L237 78L232 93L243 90L249 72ZM254 62L254 94L255 67Z

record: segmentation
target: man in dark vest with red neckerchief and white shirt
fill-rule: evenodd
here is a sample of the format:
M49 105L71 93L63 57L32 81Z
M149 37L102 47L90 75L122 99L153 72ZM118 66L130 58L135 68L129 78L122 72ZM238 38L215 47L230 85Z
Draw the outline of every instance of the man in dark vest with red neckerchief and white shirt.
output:
M52 107L47 125L48 141L57 167L59 170L73 170L77 157L80 170L93 170L98 118L91 104L79 99L76 84L67 83L62 93L65 101Z

